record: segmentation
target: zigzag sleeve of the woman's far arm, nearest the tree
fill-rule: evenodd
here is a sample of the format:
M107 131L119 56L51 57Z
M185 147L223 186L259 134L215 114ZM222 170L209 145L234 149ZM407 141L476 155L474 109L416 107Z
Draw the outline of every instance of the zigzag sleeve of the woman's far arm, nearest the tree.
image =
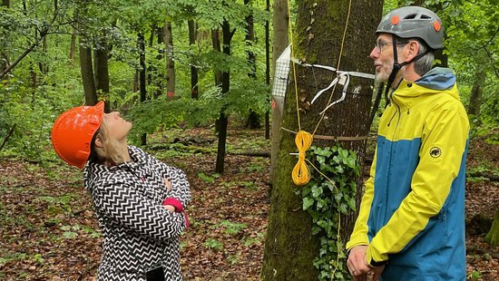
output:
M168 192L168 197L178 199L181 201L183 208L187 208L191 201L191 189L189 189L189 181L187 181L185 173L178 168L166 165L152 156L151 160L156 170L160 172L161 177L171 181L171 191Z

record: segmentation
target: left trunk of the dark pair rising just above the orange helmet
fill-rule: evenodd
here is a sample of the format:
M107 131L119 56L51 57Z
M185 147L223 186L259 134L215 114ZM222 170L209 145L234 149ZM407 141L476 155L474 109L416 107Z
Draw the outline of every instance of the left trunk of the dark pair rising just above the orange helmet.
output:
M85 39L80 37L80 70L82 73L83 92L85 104L95 105L98 102L93 78L92 50L86 45Z

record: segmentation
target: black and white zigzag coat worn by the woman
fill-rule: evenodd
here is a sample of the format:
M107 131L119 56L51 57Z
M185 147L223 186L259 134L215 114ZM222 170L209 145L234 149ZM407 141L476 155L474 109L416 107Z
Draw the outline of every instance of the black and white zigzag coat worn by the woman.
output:
M183 171L143 150L129 146L129 152L132 162L113 167L89 162L84 172L103 233L98 280L146 280L146 272L159 266L165 280L181 280L178 237L187 217L161 203L178 200L185 208L191 199L189 182ZM164 179L170 179L170 191Z

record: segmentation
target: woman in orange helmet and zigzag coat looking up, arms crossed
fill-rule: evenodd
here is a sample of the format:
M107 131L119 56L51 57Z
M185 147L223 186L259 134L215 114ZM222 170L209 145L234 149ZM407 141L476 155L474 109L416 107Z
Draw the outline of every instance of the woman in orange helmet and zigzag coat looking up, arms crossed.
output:
M189 182L176 168L127 144L132 128L103 102L65 111L54 123L59 157L84 170L103 233L98 280L181 280L178 237Z

